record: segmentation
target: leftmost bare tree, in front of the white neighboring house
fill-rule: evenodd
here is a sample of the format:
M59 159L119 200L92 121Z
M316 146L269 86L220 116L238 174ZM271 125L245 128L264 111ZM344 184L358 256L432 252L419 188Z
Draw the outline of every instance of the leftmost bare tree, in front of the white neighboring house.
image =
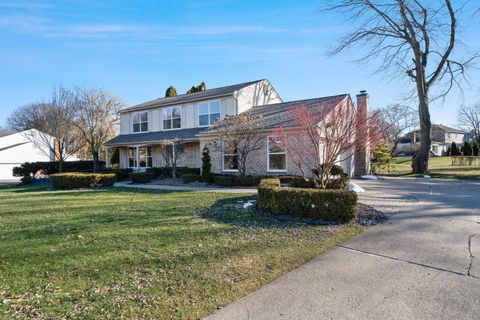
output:
M82 147L75 126L75 107L75 96L59 87L48 102L31 103L14 110L7 123L13 131L29 130L25 137L46 156L53 154L62 172L65 160Z

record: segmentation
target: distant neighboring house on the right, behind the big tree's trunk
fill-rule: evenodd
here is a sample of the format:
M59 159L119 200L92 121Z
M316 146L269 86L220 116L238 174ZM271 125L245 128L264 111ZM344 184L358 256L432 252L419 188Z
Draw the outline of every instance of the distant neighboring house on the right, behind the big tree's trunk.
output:
M432 124L430 137L432 144L430 147L431 154L435 156L447 155L448 147L452 142L457 146L463 146L465 142L466 132L460 129L447 127L441 124ZM409 132L401 140L396 153L414 153L420 147L420 130Z

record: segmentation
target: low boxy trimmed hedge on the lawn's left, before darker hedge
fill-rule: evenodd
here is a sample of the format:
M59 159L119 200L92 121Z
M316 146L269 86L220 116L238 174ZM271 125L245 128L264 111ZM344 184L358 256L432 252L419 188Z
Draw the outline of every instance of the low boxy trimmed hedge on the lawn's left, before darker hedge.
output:
M57 189L111 187L116 181L114 173L57 173L50 175Z

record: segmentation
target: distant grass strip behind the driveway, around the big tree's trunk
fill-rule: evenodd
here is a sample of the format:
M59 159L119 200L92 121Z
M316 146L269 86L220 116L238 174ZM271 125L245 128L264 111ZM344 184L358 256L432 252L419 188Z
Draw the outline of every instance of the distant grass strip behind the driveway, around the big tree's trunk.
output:
M418 176L412 174L412 158L394 158L395 169L391 176ZM450 157L431 157L428 163L432 178L480 180L480 166L452 166ZM388 174L385 174L388 175Z

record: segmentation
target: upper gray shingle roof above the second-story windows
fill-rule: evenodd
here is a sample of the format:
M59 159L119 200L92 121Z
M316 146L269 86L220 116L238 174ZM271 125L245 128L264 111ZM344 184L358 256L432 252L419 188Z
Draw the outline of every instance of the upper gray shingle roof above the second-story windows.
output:
M257 82L261 82L263 80L264 79L245 82L245 83L239 83L231 86L213 88L213 89L208 89L205 91L200 91L200 92L195 92L190 94L181 94L175 97L158 98L155 100L147 101L147 102L123 109L120 112L125 113L125 112L130 112L135 110L146 110L150 108L158 108L158 107L170 106L175 104L187 103L191 101L198 101L198 100L204 100L204 99L215 98L220 96L226 96L229 94L233 94L237 90L248 87Z

